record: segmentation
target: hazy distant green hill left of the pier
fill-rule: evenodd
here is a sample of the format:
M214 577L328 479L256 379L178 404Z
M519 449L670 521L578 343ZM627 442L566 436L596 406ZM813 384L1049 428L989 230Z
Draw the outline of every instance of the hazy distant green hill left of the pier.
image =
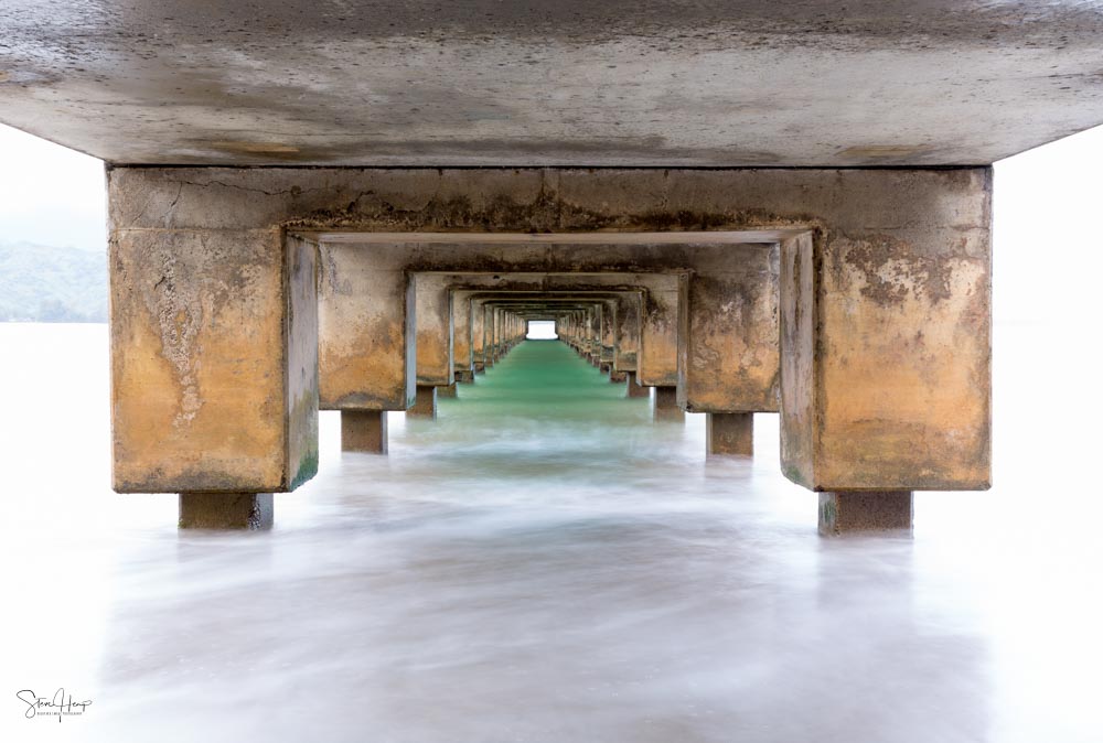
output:
M107 256L0 243L0 322L107 322Z

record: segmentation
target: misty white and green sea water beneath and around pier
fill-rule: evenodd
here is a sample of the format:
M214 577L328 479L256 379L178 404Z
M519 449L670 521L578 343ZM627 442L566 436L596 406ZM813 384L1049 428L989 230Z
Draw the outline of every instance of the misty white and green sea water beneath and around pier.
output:
M110 492L105 327L0 325L0 740L1103 740L1099 389L1027 403L1049 337L997 331L996 487L913 539L821 539L775 417L706 462L552 342L386 457L323 413L319 476L226 535ZM58 687L92 706L23 718Z

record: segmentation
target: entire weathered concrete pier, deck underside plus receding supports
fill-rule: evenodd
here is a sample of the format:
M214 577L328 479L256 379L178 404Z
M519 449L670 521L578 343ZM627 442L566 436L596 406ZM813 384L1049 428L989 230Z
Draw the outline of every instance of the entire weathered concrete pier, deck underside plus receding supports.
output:
M263 526L533 319L780 414L824 532L988 487L990 165L1103 121L1097 3L467 4L0 9L0 119L107 163L115 489Z

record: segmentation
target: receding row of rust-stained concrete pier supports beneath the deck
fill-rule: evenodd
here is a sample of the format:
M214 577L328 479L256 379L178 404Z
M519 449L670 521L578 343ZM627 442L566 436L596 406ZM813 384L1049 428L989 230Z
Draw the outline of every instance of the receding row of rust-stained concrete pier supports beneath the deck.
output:
M780 412L782 472L827 531L910 525L903 488L989 486L990 169L115 168L108 190L113 486L185 493L184 526L268 520L239 495L317 473L319 410L382 451L368 411L432 410L493 364L485 338L472 358L486 311L526 295L645 297L638 335L589 319L591 363L610 327L635 340L610 378L715 413L714 452Z

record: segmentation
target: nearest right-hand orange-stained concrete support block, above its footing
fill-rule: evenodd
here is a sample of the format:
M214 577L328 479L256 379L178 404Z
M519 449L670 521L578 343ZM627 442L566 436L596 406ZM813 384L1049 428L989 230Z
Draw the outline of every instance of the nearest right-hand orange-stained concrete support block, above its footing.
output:
M900 227L783 243L782 465L816 491L985 489L990 171L892 179L867 219Z

